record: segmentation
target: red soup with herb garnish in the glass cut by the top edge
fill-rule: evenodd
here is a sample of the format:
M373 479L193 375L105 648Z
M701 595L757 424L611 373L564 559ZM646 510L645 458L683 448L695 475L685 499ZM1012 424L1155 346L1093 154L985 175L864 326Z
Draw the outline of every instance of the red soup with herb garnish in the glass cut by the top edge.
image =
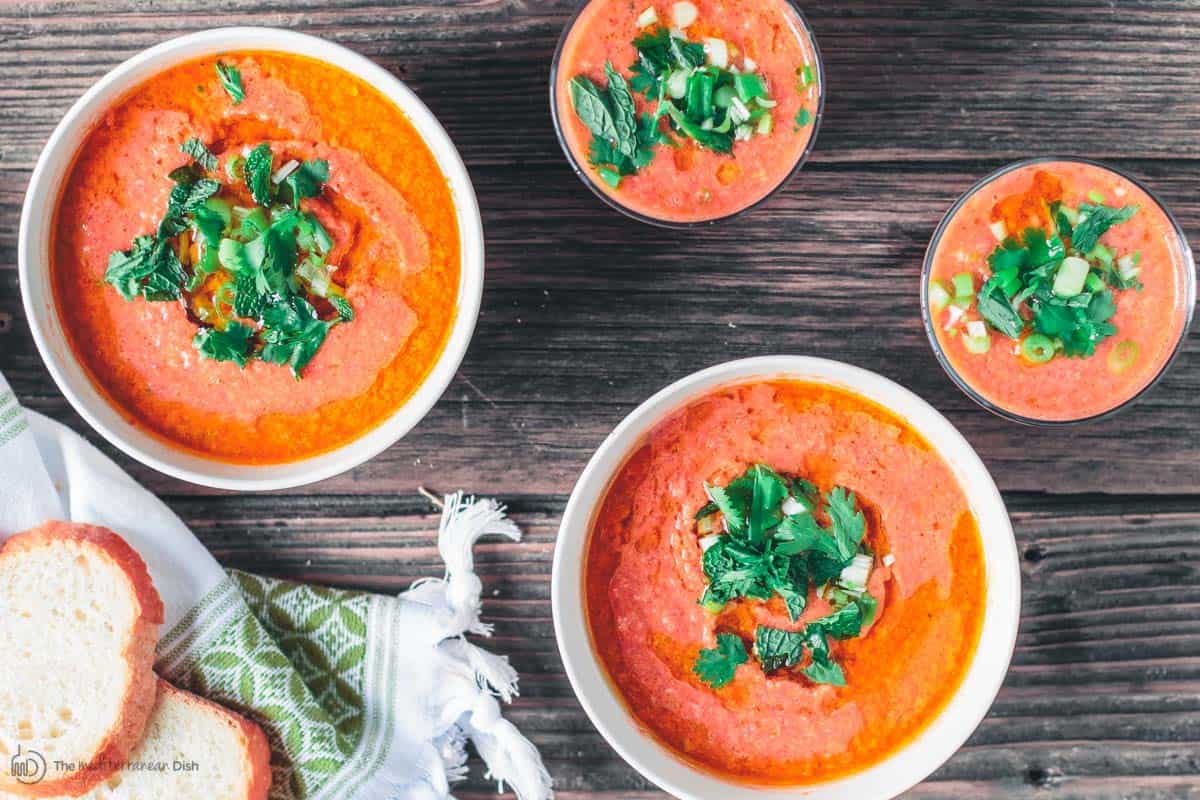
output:
M581 79L596 91L583 100L592 113L580 109ZM553 89L564 144L590 184L673 223L770 194L808 151L821 108L816 46L786 0L593 0L563 41ZM601 106L616 130L598 127ZM632 157L620 154L623 113Z

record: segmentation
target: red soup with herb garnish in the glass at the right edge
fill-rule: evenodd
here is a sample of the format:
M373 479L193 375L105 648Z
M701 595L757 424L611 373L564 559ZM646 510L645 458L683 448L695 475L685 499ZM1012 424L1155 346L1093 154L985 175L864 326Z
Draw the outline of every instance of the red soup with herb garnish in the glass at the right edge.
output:
M1148 386L1192 313L1192 254L1134 181L1033 162L970 194L930 253L929 325L986 403L1046 422L1110 411Z

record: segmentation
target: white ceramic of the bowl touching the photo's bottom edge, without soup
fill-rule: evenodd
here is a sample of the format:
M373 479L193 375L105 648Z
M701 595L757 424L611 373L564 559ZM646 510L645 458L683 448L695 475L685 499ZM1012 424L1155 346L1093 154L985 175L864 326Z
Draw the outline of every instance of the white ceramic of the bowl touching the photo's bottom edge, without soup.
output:
M988 600L979 646L949 704L913 741L862 772L799 787L733 783L689 765L642 729L616 693L592 648L583 607L583 563L593 515L646 433L667 414L714 387L788 378L838 386L889 409L932 445L953 469L979 523ZM671 384L635 409L588 462L563 516L551 582L554 636L576 697L610 745L647 780L682 800L886 800L943 764L976 729L1000 691L1016 643L1021 577L1013 528L986 468L966 439L929 403L872 372L838 361L764 356L731 361Z

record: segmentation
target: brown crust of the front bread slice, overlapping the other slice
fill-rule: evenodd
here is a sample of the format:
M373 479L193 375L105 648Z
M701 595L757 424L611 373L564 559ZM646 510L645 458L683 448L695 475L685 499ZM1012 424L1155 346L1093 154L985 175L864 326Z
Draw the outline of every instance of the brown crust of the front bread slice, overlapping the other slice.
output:
M92 548L121 570L130 582L138 604L138 615L122 651L131 681L121 702L120 717L90 759L96 765L94 769L61 776L48 772L43 781L26 784L8 774L7 764L0 765L0 790L25 798L78 796L116 772L142 741L158 691L154 658L158 627L163 621L162 597L155 589L145 561L128 542L100 525L50 521L5 541L0 546L0 569L4 569L5 560L20 553L64 541Z

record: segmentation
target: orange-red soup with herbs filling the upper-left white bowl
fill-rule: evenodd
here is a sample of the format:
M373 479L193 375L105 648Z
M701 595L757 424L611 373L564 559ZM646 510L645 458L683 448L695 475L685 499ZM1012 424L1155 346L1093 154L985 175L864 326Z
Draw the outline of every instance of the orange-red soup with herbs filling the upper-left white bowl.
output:
M229 462L360 437L434 366L454 324L446 178L362 80L228 53L128 92L84 139L52 247L77 359L140 428Z

